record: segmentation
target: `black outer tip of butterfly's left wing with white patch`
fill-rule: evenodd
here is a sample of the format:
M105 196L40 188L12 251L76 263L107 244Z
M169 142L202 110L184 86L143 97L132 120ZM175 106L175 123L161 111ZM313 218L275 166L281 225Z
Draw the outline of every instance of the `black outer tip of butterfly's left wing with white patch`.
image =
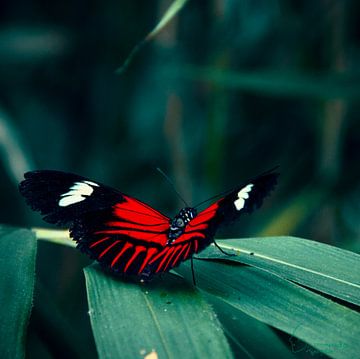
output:
M19 191L26 203L46 222L59 226L71 225L85 213L124 201L115 189L72 173L39 170L27 172L24 177Z

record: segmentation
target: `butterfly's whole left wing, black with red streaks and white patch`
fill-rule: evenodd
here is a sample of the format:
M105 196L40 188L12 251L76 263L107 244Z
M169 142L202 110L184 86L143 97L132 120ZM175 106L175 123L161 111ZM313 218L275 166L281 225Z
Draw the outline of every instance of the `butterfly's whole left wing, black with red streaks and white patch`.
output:
M19 189L45 221L68 226L78 248L114 272L148 272L166 255L169 218L135 198L48 170L26 173Z

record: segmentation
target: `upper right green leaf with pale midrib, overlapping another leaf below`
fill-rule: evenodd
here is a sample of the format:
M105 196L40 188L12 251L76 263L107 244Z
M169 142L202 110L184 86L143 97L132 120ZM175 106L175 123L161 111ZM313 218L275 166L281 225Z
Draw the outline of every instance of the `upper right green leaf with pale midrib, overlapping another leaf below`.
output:
M281 277L360 305L360 255L295 237L217 241L236 256L209 247L201 257L223 258L271 271Z

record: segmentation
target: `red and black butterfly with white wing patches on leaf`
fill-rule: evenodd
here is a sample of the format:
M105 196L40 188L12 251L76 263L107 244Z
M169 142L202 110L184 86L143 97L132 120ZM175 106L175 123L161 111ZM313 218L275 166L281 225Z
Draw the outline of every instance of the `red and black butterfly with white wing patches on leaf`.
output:
M44 220L70 228L77 247L115 273L151 277L192 258L218 227L261 206L278 173L269 171L197 213L169 218L149 205L84 177L59 171L24 175L20 193Z

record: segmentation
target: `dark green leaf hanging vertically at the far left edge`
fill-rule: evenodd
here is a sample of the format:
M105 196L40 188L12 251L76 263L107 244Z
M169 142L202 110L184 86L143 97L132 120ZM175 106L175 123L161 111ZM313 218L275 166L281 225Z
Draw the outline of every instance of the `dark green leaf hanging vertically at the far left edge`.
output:
M25 356L35 281L35 235L0 227L0 357Z

